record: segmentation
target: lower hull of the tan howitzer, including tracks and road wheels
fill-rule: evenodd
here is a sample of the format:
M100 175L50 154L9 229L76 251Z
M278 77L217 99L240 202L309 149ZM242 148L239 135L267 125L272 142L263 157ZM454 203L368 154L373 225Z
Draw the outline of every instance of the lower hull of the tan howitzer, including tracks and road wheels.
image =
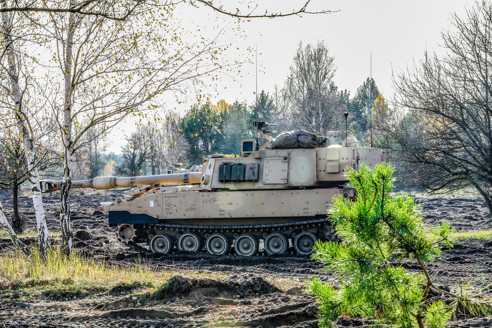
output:
M168 253L176 246L200 251L208 241L205 247L212 254L225 254L234 244L236 254L254 255L259 241L274 234L276 239L264 246L265 251L284 253L289 239L296 245L296 237L304 232L307 240L298 239L296 250L308 255L315 239L336 239L327 207L333 196L350 192L338 188L161 192L132 201L133 208L146 208L145 212L128 211L124 202L110 205L109 224L119 226L123 243L149 242L156 253ZM240 238L245 240L238 249L237 240L243 235L247 236Z

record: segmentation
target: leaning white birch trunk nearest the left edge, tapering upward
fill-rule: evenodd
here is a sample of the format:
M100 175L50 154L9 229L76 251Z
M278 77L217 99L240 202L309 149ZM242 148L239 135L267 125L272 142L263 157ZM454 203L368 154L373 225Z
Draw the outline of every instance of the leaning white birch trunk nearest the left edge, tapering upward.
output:
M5 1L0 2L0 7L6 6ZM15 118L16 125L19 130L19 134L22 137L22 145L26 152L26 161L29 170L29 180L31 181L32 191L32 203L34 206L34 212L36 214L38 245L40 255L43 258L47 257L48 248L50 247L48 239L48 227L46 225L46 219L44 217L43 200L41 197L41 189L39 185L38 169L35 161L35 150L33 147L32 136L28 129L28 121L22 108L22 91L19 86L19 75L17 72L15 49L13 44L13 38L11 35L12 23L9 13L2 12L2 33L5 40L5 52L8 59L8 75L10 78L10 87L12 92L12 99L15 105Z

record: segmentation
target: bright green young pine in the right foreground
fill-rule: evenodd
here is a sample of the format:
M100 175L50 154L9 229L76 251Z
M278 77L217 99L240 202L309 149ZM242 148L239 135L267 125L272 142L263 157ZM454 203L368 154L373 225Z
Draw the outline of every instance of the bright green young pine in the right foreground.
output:
M363 316L375 326L440 328L455 310L490 314L490 303L434 285L427 264L442 246L452 246L453 228L443 222L426 229L413 198L391 193L393 172L386 163L374 170L350 169L349 186L357 190L357 200L334 198L331 217L343 242L318 241L312 257L336 272L339 286L312 278L307 288L318 297L320 327L334 327L340 316ZM409 272L403 261L414 261L420 270ZM454 301L429 299L431 289Z

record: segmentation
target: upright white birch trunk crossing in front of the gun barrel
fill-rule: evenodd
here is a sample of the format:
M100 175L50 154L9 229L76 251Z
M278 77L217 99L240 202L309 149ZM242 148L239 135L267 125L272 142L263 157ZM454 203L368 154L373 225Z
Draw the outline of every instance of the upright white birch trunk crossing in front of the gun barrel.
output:
M75 5L75 1L70 1L70 6ZM70 223L70 186L72 184L72 52L73 34L75 32L75 14L68 16L68 34L65 48L65 96L63 103L63 147L65 156L63 160L63 179L62 190L60 192L60 227L62 228L62 254L70 256L72 253L73 232Z

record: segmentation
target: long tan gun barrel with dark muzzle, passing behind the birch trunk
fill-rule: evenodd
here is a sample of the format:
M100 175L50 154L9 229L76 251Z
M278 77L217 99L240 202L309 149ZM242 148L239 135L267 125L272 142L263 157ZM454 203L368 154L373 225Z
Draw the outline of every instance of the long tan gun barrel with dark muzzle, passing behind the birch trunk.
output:
M116 187L128 187L149 184L198 184L202 178L201 172L163 174L159 176L143 177L96 177L90 180L72 181L71 188L92 188L97 190L113 189ZM43 193L62 189L62 181L41 180Z

